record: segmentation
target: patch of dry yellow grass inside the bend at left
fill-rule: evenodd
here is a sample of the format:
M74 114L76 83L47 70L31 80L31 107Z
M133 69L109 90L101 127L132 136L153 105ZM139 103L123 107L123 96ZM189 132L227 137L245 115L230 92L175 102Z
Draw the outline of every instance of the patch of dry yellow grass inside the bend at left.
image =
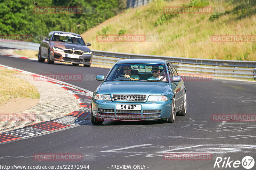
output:
M39 99L40 94L35 86L13 74L21 73L0 67L0 106L13 97Z

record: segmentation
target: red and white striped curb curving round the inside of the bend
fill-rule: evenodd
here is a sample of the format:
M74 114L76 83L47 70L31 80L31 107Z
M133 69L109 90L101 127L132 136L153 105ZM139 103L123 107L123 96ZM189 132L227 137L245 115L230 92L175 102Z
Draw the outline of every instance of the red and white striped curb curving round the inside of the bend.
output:
M43 77L45 76L27 72L24 70L4 66L0 64L0 67L8 68L11 70L16 70L24 74L28 74L34 77ZM79 102L79 109L67 114L66 116L59 117L50 121L46 122L40 122L32 125L28 125L22 128L10 130L10 131L4 131L0 133L0 143L7 142L15 139L35 136L38 134L42 134L49 131L54 131L57 129L65 128L68 126L72 126L75 124L79 124L82 122L85 122L87 120L90 120L91 117L91 102L92 102L92 92L86 89L79 88L77 86L68 84L63 81L58 81L52 78L48 78L48 82L51 82L63 89L68 90L69 93L74 95L76 99Z

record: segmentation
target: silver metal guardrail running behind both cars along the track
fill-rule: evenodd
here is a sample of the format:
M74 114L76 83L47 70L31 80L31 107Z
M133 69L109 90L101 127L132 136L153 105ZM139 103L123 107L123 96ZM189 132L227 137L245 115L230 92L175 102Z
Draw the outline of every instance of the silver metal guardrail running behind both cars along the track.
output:
M0 46L18 49L38 50L40 44L32 42L1 42ZM218 77L256 79L256 61L212 60L160 55L116 53L92 50L92 64L113 66L118 60L129 58L164 59L173 63L179 73L211 74Z

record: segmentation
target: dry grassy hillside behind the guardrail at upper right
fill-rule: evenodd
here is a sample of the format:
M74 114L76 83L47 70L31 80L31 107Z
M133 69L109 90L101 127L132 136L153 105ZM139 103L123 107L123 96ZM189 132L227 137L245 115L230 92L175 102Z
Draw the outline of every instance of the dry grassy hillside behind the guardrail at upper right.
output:
M193 0L194 2L201 0ZM182 6L191 0L155 0L108 19L81 36L92 43L92 49L165 55L187 58L256 60L256 45L244 42L212 42L212 35L255 35L256 6L253 1L219 0L207 1L207 6L224 8L222 13L178 14L164 18L164 6ZM169 18L168 18L169 17ZM158 21L162 23L156 25ZM156 35L156 42L98 42L99 34Z

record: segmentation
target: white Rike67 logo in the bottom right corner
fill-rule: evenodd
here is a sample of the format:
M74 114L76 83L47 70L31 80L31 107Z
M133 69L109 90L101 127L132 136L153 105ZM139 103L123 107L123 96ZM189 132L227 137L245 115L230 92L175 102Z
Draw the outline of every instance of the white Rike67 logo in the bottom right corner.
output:
M245 168L245 169L251 169L254 166L254 159L251 156L245 156L242 161L240 160L230 160L230 157L228 157L228 159L225 157L224 159L222 159L221 157L217 157L214 163L214 168L218 167L218 168L238 168L241 167L241 165ZM239 168L240 169L240 168Z

